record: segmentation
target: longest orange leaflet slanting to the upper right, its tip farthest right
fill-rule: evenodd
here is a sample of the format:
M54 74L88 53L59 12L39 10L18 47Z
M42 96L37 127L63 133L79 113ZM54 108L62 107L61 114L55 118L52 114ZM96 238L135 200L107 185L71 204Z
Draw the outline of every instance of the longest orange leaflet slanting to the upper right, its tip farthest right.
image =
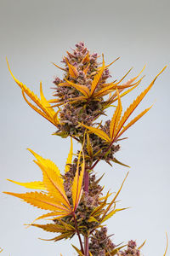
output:
M144 96L148 93L148 91L151 89L151 87L153 86L153 84L155 83L157 77L164 71L166 67L164 67L160 73L158 73L156 75L156 78L153 79L153 81L150 83L150 85L133 101L133 103L127 108L127 110L125 111L125 113L122 116L122 119L117 127L116 130L116 136L119 136L119 132L122 129L122 126L125 124L125 122L127 121L127 119L129 118L129 116L133 113L134 109L138 107L139 103L143 100Z

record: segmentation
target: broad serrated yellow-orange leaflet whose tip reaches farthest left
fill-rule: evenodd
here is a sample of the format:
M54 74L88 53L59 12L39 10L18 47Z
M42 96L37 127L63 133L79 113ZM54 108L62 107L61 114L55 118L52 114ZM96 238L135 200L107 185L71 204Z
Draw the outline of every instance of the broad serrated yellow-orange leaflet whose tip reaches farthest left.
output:
M41 208L42 210L50 210L50 211L62 211L68 212L70 211L59 204L54 198L50 197L49 195L38 193L38 192L30 192L25 194L17 194L12 192L3 192L7 195L14 195L27 203L31 204L33 207Z

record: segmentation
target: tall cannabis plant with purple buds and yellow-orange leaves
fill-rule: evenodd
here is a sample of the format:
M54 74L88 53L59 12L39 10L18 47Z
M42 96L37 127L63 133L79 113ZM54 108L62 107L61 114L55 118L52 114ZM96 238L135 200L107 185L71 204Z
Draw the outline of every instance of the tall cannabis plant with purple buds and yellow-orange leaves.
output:
M104 188L99 184L102 177L96 177L94 168L100 160L104 160L110 166L124 165L116 159L116 152L120 150L119 143L125 138L122 136L151 107L144 109L135 118L129 118L165 67L123 111L122 97L141 83L143 77L140 75L144 68L137 76L124 83L122 81L131 70L122 79L108 82L107 79L111 78L109 67L115 61L107 65L104 55L91 54L82 42L76 44L72 52L66 52L61 61L63 67L54 64L64 75L63 78L55 77L54 97L50 100L43 95L42 83L40 97L37 97L25 84L15 79L8 66L14 81L20 86L26 103L55 126L54 135L70 137L71 148L64 172L60 172L59 167L51 160L29 149L42 171L42 181L20 183L9 180L35 191L24 194L4 193L14 195L33 207L47 211L30 225L56 233L51 239L53 241L77 236L80 246L73 247L78 255L82 256L139 256L140 248L143 246L137 246L133 240L119 245L111 241L105 221L116 212L125 209L117 208L116 200L127 175L114 196L109 191L104 195ZM108 108L112 111L112 118L105 122L99 121L103 115L107 116ZM80 144L77 153L73 153L73 141ZM37 224L37 220L40 219L50 222Z

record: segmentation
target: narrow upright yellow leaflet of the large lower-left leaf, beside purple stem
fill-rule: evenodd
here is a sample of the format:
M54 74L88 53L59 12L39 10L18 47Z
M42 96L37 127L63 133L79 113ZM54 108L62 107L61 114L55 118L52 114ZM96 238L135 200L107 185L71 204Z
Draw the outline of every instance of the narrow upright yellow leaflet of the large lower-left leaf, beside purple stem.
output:
M81 155L83 157L82 160L82 171L80 172L79 175L79 166L80 166L80 158ZM73 183L72 183L72 201L73 201L73 208L74 208L74 212L77 209L78 203L81 199L81 195L82 195L82 180L83 180L83 176L84 176L84 155L82 153L82 151L80 151L79 155L78 155L78 161L77 161L77 172L76 175L73 179Z

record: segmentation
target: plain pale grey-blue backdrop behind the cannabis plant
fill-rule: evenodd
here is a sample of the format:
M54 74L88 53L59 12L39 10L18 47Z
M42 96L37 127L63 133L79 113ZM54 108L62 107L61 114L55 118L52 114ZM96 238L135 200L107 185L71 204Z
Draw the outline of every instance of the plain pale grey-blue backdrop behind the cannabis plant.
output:
M168 0L0 0L1 192L26 191L6 178L23 182L41 179L26 148L54 160L63 170L70 146L69 139L51 136L55 127L26 105L8 73L5 57L15 77L38 95L42 80L48 99L54 75L62 76L50 62L59 64L65 50L81 40L91 52L104 53L106 63L121 56L111 67L112 79L121 78L130 67L134 68L129 78L135 76L146 64L143 83L122 100L126 108L169 64L169 9ZM153 108L127 131L128 139L116 154L131 166L118 207L131 208L108 221L109 234L115 234L115 243L133 239L140 245L146 239L144 256L163 255L166 231L170 237L169 80L167 67L135 113L155 102ZM77 147L75 143L75 152ZM105 172L105 191L116 191L127 168L101 163L96 172L98 177ZM41 241L37 238L55 234L25 228L23 224L31 223L42 211L2 193L0 205L2 256L74 255L71 242L77 244L77 239Z

